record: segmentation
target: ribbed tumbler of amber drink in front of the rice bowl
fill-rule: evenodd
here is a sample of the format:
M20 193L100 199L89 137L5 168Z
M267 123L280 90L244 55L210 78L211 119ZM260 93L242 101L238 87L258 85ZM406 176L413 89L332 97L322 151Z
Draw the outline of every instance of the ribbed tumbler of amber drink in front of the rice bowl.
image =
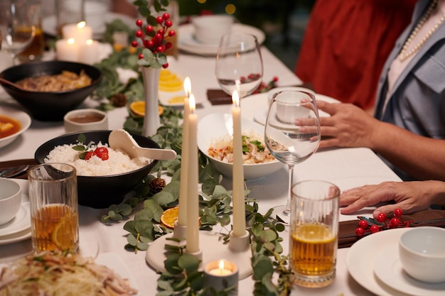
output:
M46 163L28 170L33 251L79 251L77 176L73 166Z

